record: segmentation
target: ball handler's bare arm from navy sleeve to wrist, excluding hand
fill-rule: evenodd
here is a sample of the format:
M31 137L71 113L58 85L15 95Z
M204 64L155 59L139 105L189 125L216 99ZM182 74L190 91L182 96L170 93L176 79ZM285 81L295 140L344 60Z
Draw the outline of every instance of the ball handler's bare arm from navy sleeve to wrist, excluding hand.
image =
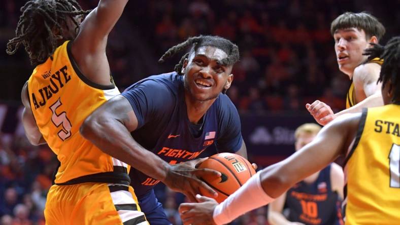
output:
M164 182L169 164L132 138L130 132L137 126L138 119L129 101L119 95L97 108L80 132L108 155Z

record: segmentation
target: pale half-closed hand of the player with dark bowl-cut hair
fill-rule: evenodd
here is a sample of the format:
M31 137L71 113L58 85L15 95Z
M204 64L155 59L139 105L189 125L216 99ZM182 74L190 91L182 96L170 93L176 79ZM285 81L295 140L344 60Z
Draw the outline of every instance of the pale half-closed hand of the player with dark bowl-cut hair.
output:
M325 126L336 118L330 106L322 101L316 100L312 104L307 103L306 108L311 116L314 117L315 121L322 126Z

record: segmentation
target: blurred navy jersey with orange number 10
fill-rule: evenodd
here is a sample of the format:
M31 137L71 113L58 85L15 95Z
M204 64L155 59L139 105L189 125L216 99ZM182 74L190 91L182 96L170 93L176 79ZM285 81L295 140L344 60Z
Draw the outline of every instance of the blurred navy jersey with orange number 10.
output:
M305 224L341 224L340 200L332 192L330 165L319 172L313 183L301 181L286 195L289 220Z

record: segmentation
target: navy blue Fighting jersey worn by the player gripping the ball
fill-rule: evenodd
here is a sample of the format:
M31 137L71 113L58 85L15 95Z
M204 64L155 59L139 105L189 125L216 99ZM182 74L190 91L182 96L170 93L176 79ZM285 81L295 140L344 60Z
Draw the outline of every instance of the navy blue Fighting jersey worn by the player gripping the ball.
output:
M242 146L238 110L224 94L217 97L199 124L190 123L183 76L176 72L146 78L121 95L138 118L132 137L170 164L194 160L210 145L215 145L215 153L235 153ZM135 168L129 175L137 196L145 195L159 182Z

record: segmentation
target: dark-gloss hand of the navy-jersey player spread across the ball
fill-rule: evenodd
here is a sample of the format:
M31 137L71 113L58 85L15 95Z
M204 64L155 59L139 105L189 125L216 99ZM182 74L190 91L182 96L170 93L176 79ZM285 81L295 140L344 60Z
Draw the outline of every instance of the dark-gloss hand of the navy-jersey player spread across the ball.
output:
M171 165L163 183L173 191L183 193L191 202L196 201L196 194L199 194L200 188L207 190L209 197L217 197L218 194L209 185L198 177L212 175L220 177L221 173L207 168L197 169L195 165L203 162L207 158L197 159Z

